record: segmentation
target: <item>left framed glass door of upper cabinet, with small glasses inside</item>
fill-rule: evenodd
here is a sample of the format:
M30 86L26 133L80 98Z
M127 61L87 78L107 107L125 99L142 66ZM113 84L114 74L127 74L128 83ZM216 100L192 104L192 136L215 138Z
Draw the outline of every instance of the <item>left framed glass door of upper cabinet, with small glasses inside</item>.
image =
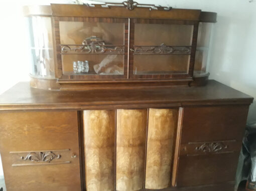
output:
M55 29L60 79L127 78L127 19L57 17Z

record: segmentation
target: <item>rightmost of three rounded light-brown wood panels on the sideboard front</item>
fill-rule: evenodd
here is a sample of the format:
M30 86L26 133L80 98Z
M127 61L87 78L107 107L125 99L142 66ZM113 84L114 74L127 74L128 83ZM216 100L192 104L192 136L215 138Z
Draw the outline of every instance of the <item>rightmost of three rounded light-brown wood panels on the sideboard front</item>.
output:
M178 109L149 109L145 188L170 186Z

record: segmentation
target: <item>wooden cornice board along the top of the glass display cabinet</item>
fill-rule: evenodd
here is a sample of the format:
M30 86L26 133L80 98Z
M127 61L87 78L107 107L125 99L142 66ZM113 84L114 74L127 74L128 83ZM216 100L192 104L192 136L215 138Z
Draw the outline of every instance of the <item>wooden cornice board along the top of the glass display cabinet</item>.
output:
M152 9L149 7L135 7L129 10L124 6L102 7L102 4L87 6L86 4L51 4L28 5L23 7L25 16L86 16L86 17L119 17L119 18L165 18L178 20L199 20L202 22L216 22L216 12L205 12L200 9L171 8L170 10ZM94 7L93 7L94 6ZM104 3L103 3L104 6ZM154 6L154 5L153 5ZM155 7L156 8L156 7Z

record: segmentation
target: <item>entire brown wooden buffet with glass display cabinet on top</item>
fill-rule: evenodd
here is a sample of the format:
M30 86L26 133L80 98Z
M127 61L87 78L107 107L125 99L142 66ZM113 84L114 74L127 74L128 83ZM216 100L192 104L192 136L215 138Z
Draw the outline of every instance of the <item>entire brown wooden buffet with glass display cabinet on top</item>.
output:
M253 98L208 80L215 13L132 0L25 11L31 82L0 95L8 191L233 190Z

